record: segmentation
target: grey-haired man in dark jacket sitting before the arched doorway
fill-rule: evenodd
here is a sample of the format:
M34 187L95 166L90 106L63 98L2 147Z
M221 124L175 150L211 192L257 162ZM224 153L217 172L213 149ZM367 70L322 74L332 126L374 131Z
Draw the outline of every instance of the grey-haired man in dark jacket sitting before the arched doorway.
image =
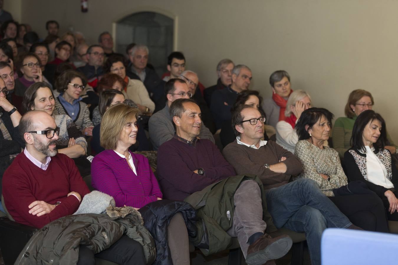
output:
M164 95L164 84L166 83L156 72L148 68L149 50L147 46L135 45L129 54L131 64L127 67L127 76L131 79L141 80L149 97L155 103L154 113L166 106L166 98Z

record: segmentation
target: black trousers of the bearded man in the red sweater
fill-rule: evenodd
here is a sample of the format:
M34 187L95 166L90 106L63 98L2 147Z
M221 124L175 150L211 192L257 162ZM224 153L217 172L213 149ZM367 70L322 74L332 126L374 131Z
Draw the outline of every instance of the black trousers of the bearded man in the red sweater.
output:
M79 247L79 260L78 265L95 265L95 258L105 259L121 265L137 264L144 265L145 257L142 246L139 242L123 235L108 249L94 254L86 246L80 245Z

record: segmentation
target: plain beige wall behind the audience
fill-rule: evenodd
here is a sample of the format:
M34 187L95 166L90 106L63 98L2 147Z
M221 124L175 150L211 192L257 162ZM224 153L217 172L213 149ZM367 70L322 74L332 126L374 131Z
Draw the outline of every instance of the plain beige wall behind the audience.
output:
M6 0L10 1L10 0ZM143 6L144 5L144 6ZM398 1L394 0L22 0L23 21L44 36L47 19L73 27L95 42L101 31L137 10L178 18L177 48L206 86L222 58L253 71L252 89L271 96L268 78L284 69L293 89L305 89L315 106L343 115L348 94L366 89L398 143Z

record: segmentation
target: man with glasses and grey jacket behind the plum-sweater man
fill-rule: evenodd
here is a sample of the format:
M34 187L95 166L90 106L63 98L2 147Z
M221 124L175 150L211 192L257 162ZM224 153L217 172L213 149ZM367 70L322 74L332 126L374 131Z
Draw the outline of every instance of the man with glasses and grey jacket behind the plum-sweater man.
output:
M159 146L174 137L174 126L169 114L169 107L176 99L189 99L192 97L187 83L178 78L172 78L167 81L164 86L166 94L166 106L153 114L149 119L149 137L154 150L158 150ZM209 139L214 143L213 134L201 124L199 138Z

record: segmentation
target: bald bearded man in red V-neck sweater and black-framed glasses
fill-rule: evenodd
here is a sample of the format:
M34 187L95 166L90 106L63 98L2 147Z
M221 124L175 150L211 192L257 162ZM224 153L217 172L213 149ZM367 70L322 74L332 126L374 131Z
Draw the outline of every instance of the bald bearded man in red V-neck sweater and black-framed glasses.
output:
M16 222L41 228L72 215L90 190L73 160L58 153L59 128L53 117L44 111L29 111L19 129L25 150L4 173L4 203ZM127 236L95 257L119 264L145 263L141 245ZM95 264L94 252L80 246L77 264Z

